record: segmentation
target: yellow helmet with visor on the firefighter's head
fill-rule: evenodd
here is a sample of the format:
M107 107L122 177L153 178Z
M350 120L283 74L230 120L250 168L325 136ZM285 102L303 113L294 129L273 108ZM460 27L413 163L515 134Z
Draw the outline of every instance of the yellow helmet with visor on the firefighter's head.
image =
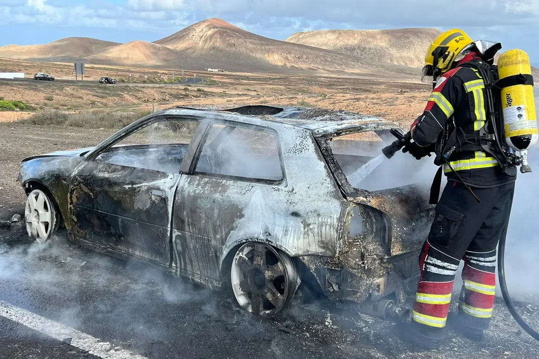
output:
M425 66L423 76L438 77L439 74L451 69L456 61L464 57L462 50L470 49L473 40L460 29L447 30L438 35L431 43L425 54ZM460 55L460 56L459 56Z

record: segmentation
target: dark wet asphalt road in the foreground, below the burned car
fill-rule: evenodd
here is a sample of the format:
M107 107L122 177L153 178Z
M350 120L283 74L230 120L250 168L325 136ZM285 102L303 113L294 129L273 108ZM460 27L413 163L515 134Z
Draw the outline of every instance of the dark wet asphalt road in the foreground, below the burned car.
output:
M3 229L1 229L3 228ZM530 358L539 346L500 298L482 343L448 333L414 351L395 324L329 306L259 321L221 292L68 243L29 243L0 223L0 358ZM519 310L532 321L533 306Z

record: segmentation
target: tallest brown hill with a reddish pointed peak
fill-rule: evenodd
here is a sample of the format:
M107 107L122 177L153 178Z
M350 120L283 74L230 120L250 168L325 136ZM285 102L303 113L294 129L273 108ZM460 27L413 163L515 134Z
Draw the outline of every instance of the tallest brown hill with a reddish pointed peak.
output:
M229 71L314 70L400 75L416 78L415 69L341 54L312 46L269 39L212 18L157 40L155 44L182 51L201 67Z

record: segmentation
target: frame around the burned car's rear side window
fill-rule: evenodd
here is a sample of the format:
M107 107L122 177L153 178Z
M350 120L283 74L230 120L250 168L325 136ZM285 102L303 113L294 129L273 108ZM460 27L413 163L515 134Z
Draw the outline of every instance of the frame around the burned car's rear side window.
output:
M223 120L223 119L206 119L208 120L204 129L204 133L202 134L201 138L199 139L199 142L197 144L197 148L195 151L195 154L192 158L190 167L189 167L189 175L193 176L202 176L202 177L209 177L209 178L220 178L220 179L233 179L238 182L247 182L247 183L259 183L259 184L268 184L268 185L281 185L286 183L286 169L285 169L285 163L284 163L284 156L282 153L282 147L281 147L281 141L279 138L279 133L274 130L273 128L265 127L265 126L259 126L259 125L253 125L251 123L245 123L245 122L237 122L237 121L230 121L230 120ZM277 152L279 155L279 164L281 168L281 179L264 179L264 178L254 178L254 177L243 177L243 176L232 176L232 175L222 175L222 174L214 174L214 173L208 173L208 172L200 172L196 171L195 168L198 164L198 161L200 160L200 156L202 154L202 148L204 147L206 140L208 139L208 136L210 134L212 125L224 125L224 126L235 126L235 127L241 127L251 130L258 130L262 132L269 133L272 135L277 142Z

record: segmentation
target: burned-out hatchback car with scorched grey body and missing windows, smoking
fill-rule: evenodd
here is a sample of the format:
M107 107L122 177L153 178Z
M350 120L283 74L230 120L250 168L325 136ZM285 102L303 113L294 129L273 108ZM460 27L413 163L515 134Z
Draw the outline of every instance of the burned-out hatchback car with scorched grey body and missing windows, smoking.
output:
M231 289L261 317L298 293L386 316L415 292L433 218L422 162L381 156L396 127L302 107L158 111L96 147L25 158L26 229L42 242L61 223L74 243Z

